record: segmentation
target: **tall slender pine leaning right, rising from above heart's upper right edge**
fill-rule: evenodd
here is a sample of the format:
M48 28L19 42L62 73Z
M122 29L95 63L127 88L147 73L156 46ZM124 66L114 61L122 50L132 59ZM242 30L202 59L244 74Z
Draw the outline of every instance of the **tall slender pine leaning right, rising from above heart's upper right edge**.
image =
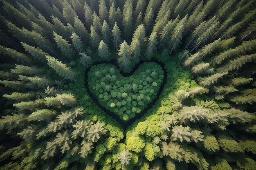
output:
M182 34L184 33L184 24L187 21L188 15L186 15L180 22L175 26L173 33L171 35L171 39L169 40L168 44L169 47L171 48L170 50L170 55L171 52L181 44L182 40Z

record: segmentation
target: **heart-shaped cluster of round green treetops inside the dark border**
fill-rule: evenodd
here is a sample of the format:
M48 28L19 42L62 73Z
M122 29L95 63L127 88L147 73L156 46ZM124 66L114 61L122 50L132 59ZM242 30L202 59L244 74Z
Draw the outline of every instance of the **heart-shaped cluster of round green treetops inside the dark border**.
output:
M155 62L146 62L128 77L113 64L98 64L88 72L88 86L101 106L128 121L141 113L157 96L164 71Z

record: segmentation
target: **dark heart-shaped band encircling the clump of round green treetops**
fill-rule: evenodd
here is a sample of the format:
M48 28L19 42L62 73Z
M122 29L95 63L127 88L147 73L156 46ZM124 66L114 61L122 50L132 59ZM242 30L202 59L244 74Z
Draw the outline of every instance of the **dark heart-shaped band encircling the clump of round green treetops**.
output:
M111 116L113 119L115 119L119 124L121 124L124 129L126 129L128 126L130 126L132 123L134 123L134 121L136 121L137 119L140 119L157 101L157 99L159 98L159 96L162 94L162 91L164 89L164 85L167 82L167 71L164 68L164 63L163 62L159 62L158 60L152 58L151 60L146 60L146 61L141 61L138 64L136 64L133 68L132 71L130 71L130 73L124 73L123 71L121 71L119 69L119 65L116 63L116 60L113 59L110 62L96 62L93 65L97 65L97 64L113 64L114 66L117 67L117 69L120 71L121 75L123 75L124 77L129 77L130 75L132 75L141 64L146 63L146 62L155 62L157 64L159 64L162 67L162 70L164 71L164 78L163 78L163 83L160 85L159 87L159 91L157 92L157 96L155 97L155 99L152 100L152 102L150 104L148 104L148 106L146 106L146 108L144 108L144 110L141 111L141 113L137 114L135 117L129 119L128 121L123 121L121 120L121 118L116 115L113 112L110 112L107 108L103 107L98 99L94 96L94 94L90 91L89 86L88 86L88 72L90 71L90 67L88 67L85 71L85 88L88 92L88 94L90 95L90 97L92 98L93 102L95 102L95 104L97 104L97 106L99 106L99 108L101 108L104 112L106 112L109 116Z

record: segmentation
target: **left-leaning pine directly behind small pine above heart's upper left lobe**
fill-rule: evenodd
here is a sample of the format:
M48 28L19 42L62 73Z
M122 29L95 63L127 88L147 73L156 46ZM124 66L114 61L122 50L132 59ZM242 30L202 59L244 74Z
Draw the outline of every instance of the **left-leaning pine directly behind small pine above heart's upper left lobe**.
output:
M74 30L75 33L81 38L83 42L89 41L89 33L83 26L83 23L79 20L78 17L74 19Z

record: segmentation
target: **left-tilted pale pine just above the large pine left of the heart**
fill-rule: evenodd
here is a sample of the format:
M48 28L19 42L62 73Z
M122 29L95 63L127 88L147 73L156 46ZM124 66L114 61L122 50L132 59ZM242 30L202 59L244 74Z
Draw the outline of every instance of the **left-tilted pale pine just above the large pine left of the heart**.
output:
M74 50L71 48L70 44L68 44L67 40L63 39L61 35L58 35L55 32L53 32L53 35L58 48L61 49L61 53L67 58L73 58Z

